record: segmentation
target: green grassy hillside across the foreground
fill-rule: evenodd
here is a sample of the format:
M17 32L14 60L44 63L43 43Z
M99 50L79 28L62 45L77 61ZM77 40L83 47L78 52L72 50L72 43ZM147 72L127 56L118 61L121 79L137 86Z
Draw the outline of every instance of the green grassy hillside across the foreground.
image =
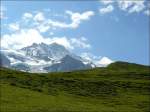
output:
M150 67L31 74L0 68L1 112L150 112Z

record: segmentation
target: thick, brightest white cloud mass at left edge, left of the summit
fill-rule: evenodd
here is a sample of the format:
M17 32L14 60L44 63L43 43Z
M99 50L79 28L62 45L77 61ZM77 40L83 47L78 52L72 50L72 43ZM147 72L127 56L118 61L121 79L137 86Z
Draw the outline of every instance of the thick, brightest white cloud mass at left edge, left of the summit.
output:
M29 29L2 36L1 46L9 49L20 49L22 47L31 45L34 42L40 43L42 41L43 37L39 34L38 31Z

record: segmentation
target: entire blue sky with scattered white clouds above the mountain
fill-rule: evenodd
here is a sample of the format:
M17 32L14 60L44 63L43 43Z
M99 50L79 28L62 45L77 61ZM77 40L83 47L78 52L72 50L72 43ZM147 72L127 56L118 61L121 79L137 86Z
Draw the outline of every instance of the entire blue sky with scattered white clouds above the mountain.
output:
M90 58L149 64L150 3L144 0L3 1L1 6L2 47L57 42Z

